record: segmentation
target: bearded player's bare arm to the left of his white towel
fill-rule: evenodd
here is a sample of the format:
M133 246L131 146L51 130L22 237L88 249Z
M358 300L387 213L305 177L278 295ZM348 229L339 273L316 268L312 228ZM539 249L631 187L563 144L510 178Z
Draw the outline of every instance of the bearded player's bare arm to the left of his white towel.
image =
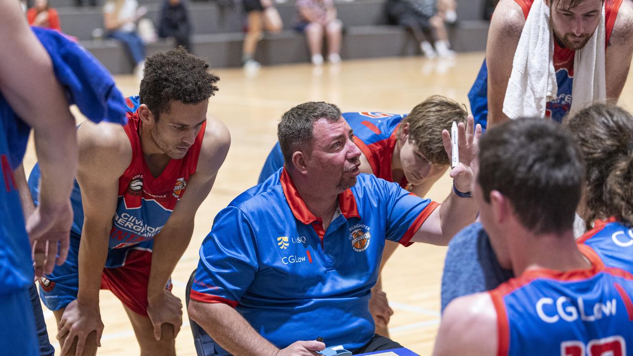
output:
M508 120L503 113L503 100L524 25L525 16L521 6L514 0L499 1L492 14L486 44L488 127Z

